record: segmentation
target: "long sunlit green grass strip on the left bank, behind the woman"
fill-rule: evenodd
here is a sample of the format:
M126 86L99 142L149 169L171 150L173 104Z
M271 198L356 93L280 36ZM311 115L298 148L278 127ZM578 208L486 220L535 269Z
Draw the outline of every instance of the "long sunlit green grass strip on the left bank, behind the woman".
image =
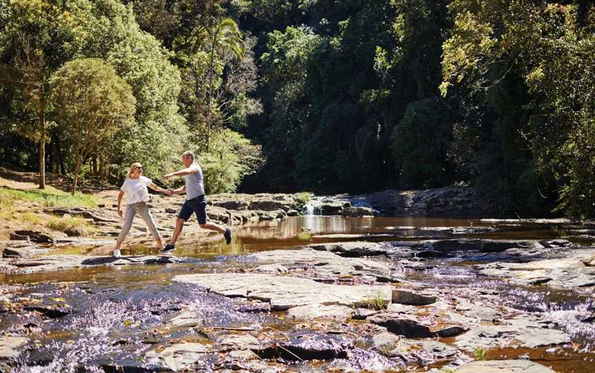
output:
M95 207L99 199L91 194L67 193L52 187L46 189L0 189L0 209L12 209L14 200L38 202L45 207Z

